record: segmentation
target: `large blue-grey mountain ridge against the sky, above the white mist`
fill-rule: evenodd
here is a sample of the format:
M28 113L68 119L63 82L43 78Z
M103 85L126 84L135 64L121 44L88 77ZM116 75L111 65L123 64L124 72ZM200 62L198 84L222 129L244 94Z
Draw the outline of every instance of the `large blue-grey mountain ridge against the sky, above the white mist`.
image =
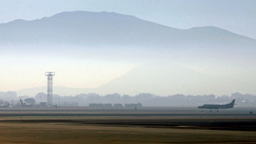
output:
M109 12L63 12L37 20L0 24L1 44L256 45L256 40L216 27L175 29L131 15Z

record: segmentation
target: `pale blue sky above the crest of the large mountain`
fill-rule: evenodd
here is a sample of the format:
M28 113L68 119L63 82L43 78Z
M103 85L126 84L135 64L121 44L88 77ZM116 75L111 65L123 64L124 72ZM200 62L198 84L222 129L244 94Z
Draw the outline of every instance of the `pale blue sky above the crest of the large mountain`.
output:
M65 11L106 11L180 29L216 26L256 38L255 0L0 0L0 10L0 23Z

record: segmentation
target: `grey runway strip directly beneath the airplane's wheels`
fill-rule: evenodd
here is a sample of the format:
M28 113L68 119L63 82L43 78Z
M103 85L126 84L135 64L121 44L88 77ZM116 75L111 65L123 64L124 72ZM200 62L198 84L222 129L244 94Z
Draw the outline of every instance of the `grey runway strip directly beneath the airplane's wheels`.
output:
M255 116L256 108L0 108L0 116Z

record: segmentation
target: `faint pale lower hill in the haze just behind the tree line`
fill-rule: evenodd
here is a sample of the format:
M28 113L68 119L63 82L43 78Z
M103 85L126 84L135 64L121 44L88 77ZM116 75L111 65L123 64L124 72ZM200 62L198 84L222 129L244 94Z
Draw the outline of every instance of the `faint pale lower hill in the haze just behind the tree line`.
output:
M253 93L255 84L246 86L246 91L244 91L244 86L241 86L243 83L248 83L248 81L236 79L236 83L234 83L234 80L229 77L212 76L177 64L159 62L140 65L124 74L124 76L117 77L97 88L54 86L54 93L73 96L81 93L98 93L100 95L152 93L161 96L174 94L209 95L213 92L216 95L224 95L234 93L234 90ZM47 87L17 91L18 95L29 96L34 96L39 92L47 93Z

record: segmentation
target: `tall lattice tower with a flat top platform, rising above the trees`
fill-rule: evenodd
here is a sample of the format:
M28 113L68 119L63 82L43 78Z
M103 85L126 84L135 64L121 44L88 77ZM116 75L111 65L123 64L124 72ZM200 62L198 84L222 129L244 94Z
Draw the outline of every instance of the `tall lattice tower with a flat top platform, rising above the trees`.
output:
M45 72L47 76L47 106L52 106L52 76L55 76L55 72Z

